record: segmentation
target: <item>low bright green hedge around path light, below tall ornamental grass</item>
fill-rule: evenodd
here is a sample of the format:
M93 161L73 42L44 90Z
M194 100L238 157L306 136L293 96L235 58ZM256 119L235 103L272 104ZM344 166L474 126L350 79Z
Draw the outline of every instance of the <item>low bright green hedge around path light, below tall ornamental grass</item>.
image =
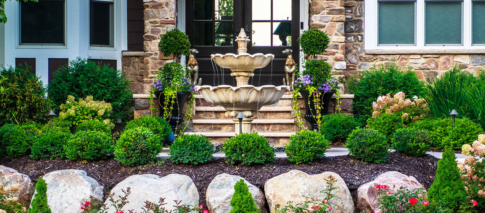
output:
M469 119L455 119L452 128L452 119L426 119L417 121L413 128L425 130L431 138L431 144L436 149L460 149L463 144L471 144L484 130L479 124Z

